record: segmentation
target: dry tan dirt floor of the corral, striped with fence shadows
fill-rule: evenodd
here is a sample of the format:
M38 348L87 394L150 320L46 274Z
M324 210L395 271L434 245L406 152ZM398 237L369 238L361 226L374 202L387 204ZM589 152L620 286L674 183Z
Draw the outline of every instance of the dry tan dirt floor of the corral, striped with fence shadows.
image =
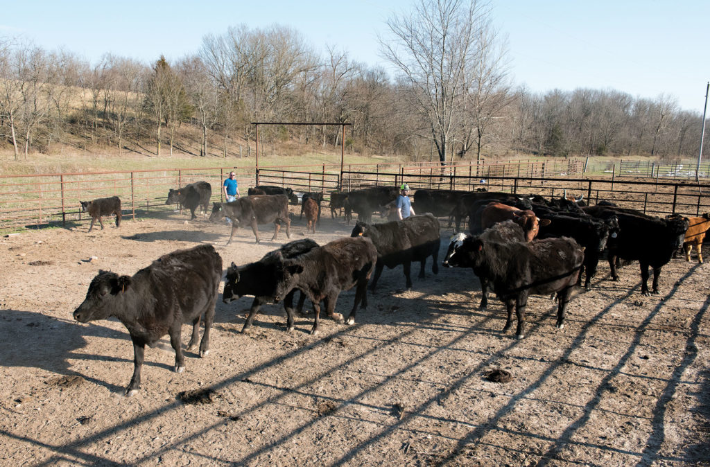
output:
M226 226L187 219L0 238L0 464L710 463L710 265L682 258L652 297L640 294L637 263L621 282L601 264L593 290L574 292L562 330L549 297L532 297L521 341L502 333L500 302L479 311L470 270L433 276L430 264L411 291L401 268L385 270L354 326L326 319L317 336L310 315L285 331L280 304L240 334L251 297L220 297L209 356L187 352L185 373L173 373L164 338L146 349L141 390L124 397L126 329L72 319L99 269L133 275L199 243L214 244L226 268L286 241L269 241L273 227L262 226L261 244L240 230L225 246ZM291 238L303 238L305 222L292 225ZM312 238L350 230L325 214ZM439 261L451 234L442 229ZM336 311L353 298L344 292ZM511 380L487 380L496 369Z

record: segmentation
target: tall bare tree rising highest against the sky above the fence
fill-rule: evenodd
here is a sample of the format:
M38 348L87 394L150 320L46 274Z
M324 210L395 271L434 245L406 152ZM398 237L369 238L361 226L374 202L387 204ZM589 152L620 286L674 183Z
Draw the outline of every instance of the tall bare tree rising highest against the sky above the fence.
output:
M380 38L384 57L413 89L443 164L454 134L454 118L464 102L466 71L481 56L481 28L488 5L477 0L419 0L409 14L392 16L393 40Z

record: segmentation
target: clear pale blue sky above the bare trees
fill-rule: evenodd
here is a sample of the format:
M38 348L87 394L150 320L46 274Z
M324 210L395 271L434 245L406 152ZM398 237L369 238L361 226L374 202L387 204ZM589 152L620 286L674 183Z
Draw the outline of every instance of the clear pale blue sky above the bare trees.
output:
M300 31L317 49L335 45L374 66L377 33L411 0L352 1L6 1L0 35L89 60L114 53L155 61L195 53L207 33L245 23ZM493 0L493 23L508 38L513 84L533 92L617 89L667 94L702 112L710 80L710 0Z

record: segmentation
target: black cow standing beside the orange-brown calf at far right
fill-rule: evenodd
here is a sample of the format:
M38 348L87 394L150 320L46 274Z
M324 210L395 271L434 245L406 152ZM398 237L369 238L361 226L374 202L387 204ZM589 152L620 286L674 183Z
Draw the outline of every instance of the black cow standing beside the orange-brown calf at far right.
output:
M687 218L674 217L660 219L650 216L638 216L618 210L619 208L594 206L585 207L584 211L599 219L616 216L619 233L608 242L608 261L611 279L619 280L616 273L616 259L638 260L641 268L641 293L648 291L648 267L653 268L652 293L658 293L658 277L661 268L670 261L673 253L682 245L689 226Z

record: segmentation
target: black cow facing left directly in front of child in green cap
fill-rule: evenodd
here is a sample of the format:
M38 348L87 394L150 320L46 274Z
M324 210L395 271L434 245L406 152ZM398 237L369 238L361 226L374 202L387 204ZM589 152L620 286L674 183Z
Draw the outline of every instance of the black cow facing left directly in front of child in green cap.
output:
M421 264L419 278L425 277L424 268L427 257L433 259L432 273L439 273L439 220L432 214L410 216L402 221L391 221L383 224L365 224L358 221L351 233L352 237L364 236L370 238L377 248L377 266L371 289L377 287L377 280L385 266L392 269L403 265L406 285L412 288L410 269L412 261Z

